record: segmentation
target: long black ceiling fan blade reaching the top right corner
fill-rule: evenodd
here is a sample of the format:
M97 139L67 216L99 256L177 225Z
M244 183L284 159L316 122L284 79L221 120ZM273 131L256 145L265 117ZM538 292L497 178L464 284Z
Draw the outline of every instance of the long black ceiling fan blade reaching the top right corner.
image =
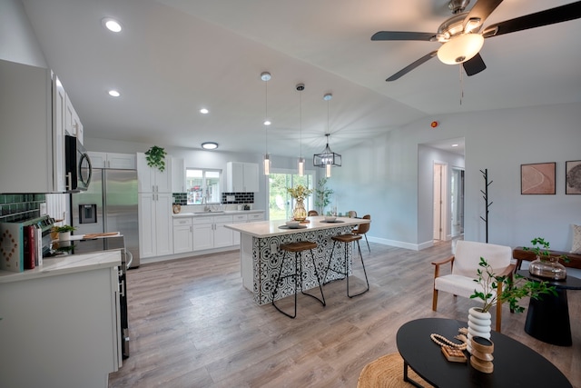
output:
M515 33L530 28L542 27L543 25L554 25L556 23L575 20L578 18L581 18L581 1L557 6L535 14L516 17L514 19L497 23L496 25L489 25L482 32L482 35L485 38L488 38L497 35Z

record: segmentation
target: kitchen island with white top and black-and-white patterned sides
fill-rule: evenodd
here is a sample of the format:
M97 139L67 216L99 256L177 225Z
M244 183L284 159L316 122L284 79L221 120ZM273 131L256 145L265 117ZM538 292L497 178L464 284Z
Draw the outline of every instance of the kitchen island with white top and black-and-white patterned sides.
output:
M261 221L249 224L228 224L230 228L241 234L240 259L242 284L253 293L254 302L266 304L272 302L273 280L276 279L281 265L282 253L280 244L299 240L309 240L318 244L315 250L317 270L324 276L324 269L329 263L332 244L330 238L337 234L347 234L359 224L369 224L370 220L339 217L336 222L325 221L323 216L307 218L308 223L301 223L300 229L287 229L285 221ZM334 261L342 260L343 249L333 253ZM351 250L349 250L351 256ZM340 261L342 263L342 261ZM349 260L349 264L351 259ZM314 268L310 261L303 264L303 284L308 290L318 286ZM350 268L348 268L350 273ZM340 274L330 273L327 281L340 279ZM322 281L322 279L321 279ZM293 284L283 284L277 293L277 299L292 295Z

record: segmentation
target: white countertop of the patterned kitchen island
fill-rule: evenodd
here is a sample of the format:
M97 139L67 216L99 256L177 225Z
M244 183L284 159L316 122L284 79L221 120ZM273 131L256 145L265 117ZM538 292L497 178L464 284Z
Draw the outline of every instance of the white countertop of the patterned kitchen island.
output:
M341 226L355 226L359 224L369 224L371 222L370 220L364 220L361 218L337 217L337 221L340 222L326 223L325 217L322 215L308 217L307 220L309 220L310 223L301 224L305 225L306 228L300 229L280 229L279 226L284 225L286 223L286 221L284 220L257 221L254 223L228 224L224 226L236 232L240 232L241 234L250 234L251 236L254 237L264 238L280 234L299 234L318 229L330 229Z

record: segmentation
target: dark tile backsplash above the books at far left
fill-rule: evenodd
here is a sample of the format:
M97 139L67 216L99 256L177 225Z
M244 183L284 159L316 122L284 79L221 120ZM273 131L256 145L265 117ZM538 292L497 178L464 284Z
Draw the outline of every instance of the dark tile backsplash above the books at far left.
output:
M40 216L44 194L0 194L0 223L15 223Z

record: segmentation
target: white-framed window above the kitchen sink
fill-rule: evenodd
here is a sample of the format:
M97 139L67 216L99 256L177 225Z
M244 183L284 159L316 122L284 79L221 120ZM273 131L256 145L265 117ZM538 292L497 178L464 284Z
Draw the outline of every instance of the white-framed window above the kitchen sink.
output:
M185 180L188 204L221 204L221 175L222 170L186 168Z

